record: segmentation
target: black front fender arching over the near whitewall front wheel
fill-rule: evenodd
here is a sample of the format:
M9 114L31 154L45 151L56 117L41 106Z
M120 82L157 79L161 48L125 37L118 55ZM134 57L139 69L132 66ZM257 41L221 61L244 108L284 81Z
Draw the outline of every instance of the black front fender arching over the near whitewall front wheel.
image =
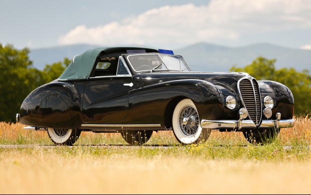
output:
M177 100L190 98L200 118L218 118L222 114L223 96L211 82L199 79L181 79L160 82L129 92L129 118L136 123L161 122L174 110ZM172 103L174 101L174 103Z

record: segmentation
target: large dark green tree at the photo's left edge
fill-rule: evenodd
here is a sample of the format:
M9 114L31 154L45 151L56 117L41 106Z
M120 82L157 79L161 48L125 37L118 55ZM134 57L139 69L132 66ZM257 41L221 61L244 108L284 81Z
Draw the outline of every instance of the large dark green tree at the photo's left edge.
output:
M0 121L15 121L21 103L44 83L42 72L33 67L28 48L16 49L0 43Z

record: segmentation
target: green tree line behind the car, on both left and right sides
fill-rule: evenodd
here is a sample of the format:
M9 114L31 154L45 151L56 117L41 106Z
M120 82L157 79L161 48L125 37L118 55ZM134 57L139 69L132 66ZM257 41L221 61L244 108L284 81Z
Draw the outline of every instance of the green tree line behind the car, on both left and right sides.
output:
M0 43L0 121L15 122L25 97L42 84L57 79L71 60L46 64L43 70L33 66L29 48L17 49L13 44ZM243 71L257 80L275 80L289 87L294 96L295 114L311 110L311 75L308 70L297 72L293 67L276 69L276 59L257 57L245 67L233 65L229 71Z

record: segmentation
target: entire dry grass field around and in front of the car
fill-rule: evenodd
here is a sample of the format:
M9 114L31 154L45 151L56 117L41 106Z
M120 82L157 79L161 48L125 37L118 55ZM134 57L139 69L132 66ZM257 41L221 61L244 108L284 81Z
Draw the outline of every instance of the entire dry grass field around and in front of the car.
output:
M49 146L47 132L23 127L0 123L0 144L6 145L0 147L1 194L311 193L309 116L297 117L294 127L263 146L240 132L218 131L188 146L171 131L154 133L143 146L123 146L120 134L92 132L71 147Z

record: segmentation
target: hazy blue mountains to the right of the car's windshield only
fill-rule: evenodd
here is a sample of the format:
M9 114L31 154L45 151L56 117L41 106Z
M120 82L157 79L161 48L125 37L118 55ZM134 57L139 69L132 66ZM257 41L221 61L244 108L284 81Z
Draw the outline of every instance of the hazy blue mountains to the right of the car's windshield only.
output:
M197 71L228 71L230 67L244 67L258 56L275 58L275 67L294 67L297 71L311 70L311 50L292 49L268 43L243 47L226 47L197 43L174 51L182 55Z

